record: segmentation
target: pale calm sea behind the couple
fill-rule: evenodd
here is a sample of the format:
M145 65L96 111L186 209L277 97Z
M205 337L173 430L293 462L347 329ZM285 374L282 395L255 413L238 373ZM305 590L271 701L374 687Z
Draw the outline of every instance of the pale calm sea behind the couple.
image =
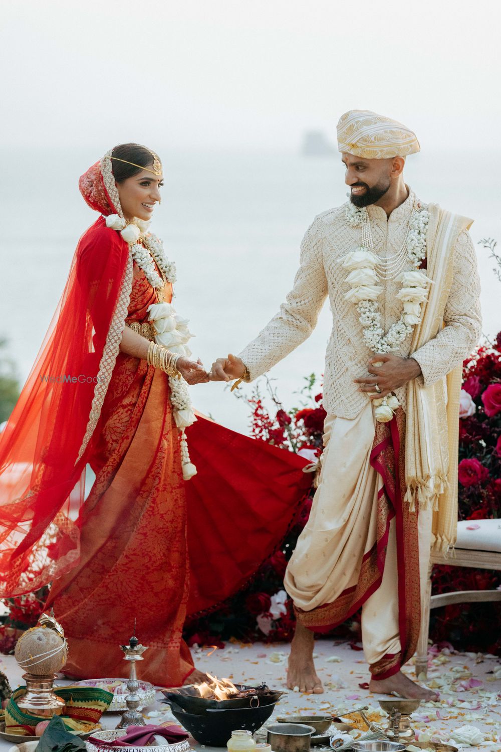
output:
M237 353L279 308L315 214L346 201L340 156L297 153L171 153L161 150L165 186L152 229L177 262L175 305L190 320L192 349L206 365ZM98 150L2 150L0 337L23 382L65 285L78 238L97 216L77 178ZM420 153L406 182L424 201L475 219L472 238L501 241L501 153ZM480 245L484 332L501 329L501 283ZM330 332L327 304L312 336L270 376L285 407L306 374L320 378ZM246 387L249 392L249 387ZM194 387L196 407L246 432L249 411L223 384Z

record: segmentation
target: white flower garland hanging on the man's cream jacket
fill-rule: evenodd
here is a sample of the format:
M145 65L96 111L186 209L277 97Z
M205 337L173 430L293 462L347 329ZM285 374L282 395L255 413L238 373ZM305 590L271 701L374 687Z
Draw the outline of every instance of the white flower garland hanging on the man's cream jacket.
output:
M423 259L426 258L426 230L430 213L418 205L418 211L413 211L409 222L407 235L407 255L409 262L416 267L416 271L402 271L396 278L401 283L397 298L403 302L403 311L397 323L388 332L381 326L381 311L379 311L378 297L383 288L377 283L376 265L378 259L365 246L358 247L340 259L343 267L349 270L346 282L351 287L345 299L357 306L359 320L363 329L364 344L373 353L390 353L398 350L400 344L412 333L412 328L421 320L421 303L427 301L428 284L431 280L419 271ZM369 223L369 214L365 207L357 208L353 204L346 207L346 222L352 227ZM375 364L376 365L376 364ZM390 395L382 399L373 400L376 405L376 420L385 423L391 420L399 402L396 396Z

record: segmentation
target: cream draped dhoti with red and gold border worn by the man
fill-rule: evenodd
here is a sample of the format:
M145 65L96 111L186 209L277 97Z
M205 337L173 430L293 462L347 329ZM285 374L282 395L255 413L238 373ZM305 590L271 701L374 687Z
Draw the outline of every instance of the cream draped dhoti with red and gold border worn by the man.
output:
M415 651L430 559L432 512L403 500L404 438L401 408L390 423L375 422L370 402L352 420L327 415L318 489L285 573L298 620L315 632L362 607L380 679Z

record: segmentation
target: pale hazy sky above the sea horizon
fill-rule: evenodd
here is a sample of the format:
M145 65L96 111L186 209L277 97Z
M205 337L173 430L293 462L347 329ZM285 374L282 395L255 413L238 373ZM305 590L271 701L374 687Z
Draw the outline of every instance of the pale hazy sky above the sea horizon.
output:
M498 0L4 3L2 141L290 150L359 108L499 150L500 20Z

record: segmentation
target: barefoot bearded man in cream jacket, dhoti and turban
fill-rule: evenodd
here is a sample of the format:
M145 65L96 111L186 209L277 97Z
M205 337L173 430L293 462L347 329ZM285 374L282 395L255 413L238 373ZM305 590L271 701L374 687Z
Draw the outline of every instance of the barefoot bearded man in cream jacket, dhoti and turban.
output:
M211 378L253 381L312 332L329 297L324 452L285 573L297 628L288 687L323 692L314 632L362 608L370 690L431 699L415 652L430 547L454 544L460 368L481 333L471 221L403 180L415 134L370 111L337 126L350 200L313 220L279 313Z

